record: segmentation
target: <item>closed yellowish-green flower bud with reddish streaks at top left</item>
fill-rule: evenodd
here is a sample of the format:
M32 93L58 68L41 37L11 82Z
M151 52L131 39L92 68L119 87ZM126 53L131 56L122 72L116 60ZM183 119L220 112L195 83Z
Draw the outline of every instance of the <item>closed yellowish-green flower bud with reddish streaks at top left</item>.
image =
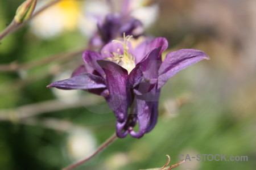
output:
M14 16L14 21L18 24L28 20L33 11L35 10L36 2L38 0L27 0L22 3L16 10L16 15Z

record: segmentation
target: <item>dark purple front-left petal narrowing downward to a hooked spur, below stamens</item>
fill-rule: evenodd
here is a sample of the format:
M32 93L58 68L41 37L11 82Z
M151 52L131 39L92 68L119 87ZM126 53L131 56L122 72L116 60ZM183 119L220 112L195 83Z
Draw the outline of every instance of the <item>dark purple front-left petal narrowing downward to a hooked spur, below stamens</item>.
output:
M98 60L97 62L106 74L106 84L110 94L108 104L117 117L117 135L121 137L122 130L120 127L125 126L123 122L127 120L130 105L130 92L126 88L128 73L126 69L115 62L109 60Z

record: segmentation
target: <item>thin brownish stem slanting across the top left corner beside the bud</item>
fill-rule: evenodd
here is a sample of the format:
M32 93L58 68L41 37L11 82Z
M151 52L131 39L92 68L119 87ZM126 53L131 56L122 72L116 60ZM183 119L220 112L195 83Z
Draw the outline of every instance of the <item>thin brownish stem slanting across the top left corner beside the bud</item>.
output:
M26 22L17 24L13 20L13 22L11 22L11 24L2 33L0 33L0 40L2 40L3 37L7 36L9 33L17 31L19 28L23 27L25 24L30 22L30 20L32 18L34 18L36 15L40 14L42 11L46 10L47 8L51 7L52 5L55 5L55 3L59 2L59 1L62 1L62 0L55 0L55 1L49 2L46 6L40 8L40 10L35 12L35 14L30 17L30 19L26 20Z

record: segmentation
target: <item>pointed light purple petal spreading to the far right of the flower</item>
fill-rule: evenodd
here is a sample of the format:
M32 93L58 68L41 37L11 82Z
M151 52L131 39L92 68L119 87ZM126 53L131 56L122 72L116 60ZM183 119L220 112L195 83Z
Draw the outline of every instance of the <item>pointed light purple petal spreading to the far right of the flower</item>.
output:
M210 58L204 52L196 49L181 49L168 53L158 71L158 88L161 88L177 72L201 59Z

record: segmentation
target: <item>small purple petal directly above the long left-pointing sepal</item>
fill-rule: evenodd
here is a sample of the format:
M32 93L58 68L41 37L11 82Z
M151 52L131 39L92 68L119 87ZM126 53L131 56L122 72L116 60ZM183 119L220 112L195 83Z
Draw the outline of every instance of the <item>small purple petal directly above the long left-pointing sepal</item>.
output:
M100 53L90 51L90 50L85 50L85 52L82 53L82 59L84 59L84 62L86 64L88 64L98 73L100 73L102 77L104 77L104 71L101 69L101 67L97 63L98 59L104 59Z

